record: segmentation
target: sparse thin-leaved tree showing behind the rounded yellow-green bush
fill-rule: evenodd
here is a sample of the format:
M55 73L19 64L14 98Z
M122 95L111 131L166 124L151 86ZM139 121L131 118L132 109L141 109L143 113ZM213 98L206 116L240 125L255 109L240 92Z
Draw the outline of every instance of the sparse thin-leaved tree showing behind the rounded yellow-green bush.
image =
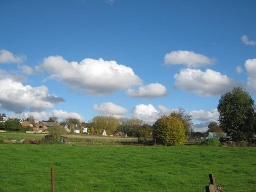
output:
M193 122L192 122L192 119L191 119L191 115L188 115L185 113L185 110L183 108L179 108L179 110L175 110L173 111L170 116L176 116L178 117L179 119L182 120L183 122L183 125L184 125L184 129L186 131L186 135L191 137L191 134L193 132Z

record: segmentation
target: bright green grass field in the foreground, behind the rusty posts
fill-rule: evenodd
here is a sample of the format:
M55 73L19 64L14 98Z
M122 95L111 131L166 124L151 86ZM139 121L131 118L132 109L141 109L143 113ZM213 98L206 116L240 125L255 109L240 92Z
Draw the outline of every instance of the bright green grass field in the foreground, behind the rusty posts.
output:
M0 192L256 191L256 148L0 144Z

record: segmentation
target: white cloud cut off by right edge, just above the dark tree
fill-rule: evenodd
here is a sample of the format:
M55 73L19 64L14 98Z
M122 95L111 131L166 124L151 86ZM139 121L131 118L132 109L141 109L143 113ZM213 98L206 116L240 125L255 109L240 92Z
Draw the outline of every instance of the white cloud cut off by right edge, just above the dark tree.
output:
M245 69L248 73L248 82L247 85L256 93L256 58L255 59L248 59L245 61L244 64Z

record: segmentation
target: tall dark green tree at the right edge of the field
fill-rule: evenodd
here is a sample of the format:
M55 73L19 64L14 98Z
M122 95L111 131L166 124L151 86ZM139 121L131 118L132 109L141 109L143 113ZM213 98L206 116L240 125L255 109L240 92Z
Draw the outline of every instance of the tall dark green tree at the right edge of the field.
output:
M256 133L256 107L252 97L241 87L221 95L218 104L220 128L232 140L250 140Z

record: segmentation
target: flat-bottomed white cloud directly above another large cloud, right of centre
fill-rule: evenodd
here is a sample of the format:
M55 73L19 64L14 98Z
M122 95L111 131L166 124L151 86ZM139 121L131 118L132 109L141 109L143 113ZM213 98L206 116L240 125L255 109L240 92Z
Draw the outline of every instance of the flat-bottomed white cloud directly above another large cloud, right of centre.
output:
M189 68L215 64L216 61L217 61L216 58L209 58L205 55L201 55L193 51L181 51L181 50L167 53L164 57L164 63L166 65L184 64Z

